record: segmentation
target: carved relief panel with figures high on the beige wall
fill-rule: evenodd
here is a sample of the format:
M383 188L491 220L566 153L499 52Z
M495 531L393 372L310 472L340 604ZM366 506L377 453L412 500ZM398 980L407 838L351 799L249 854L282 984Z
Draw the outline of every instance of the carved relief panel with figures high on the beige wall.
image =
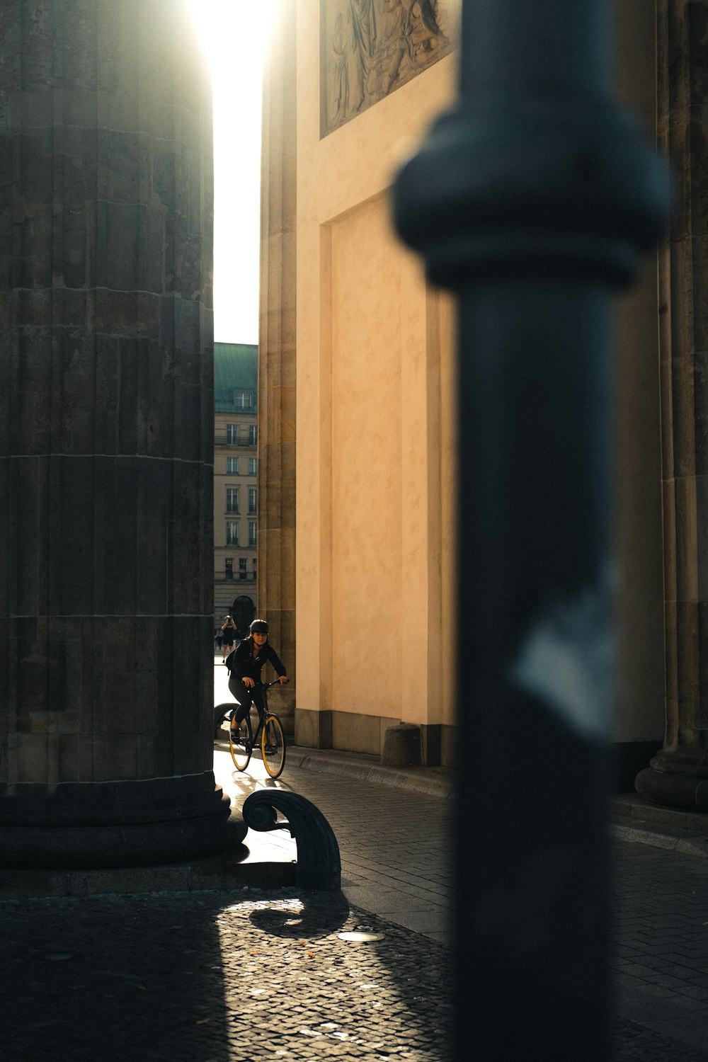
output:
M321 0L321 136L459 44L461 0Z

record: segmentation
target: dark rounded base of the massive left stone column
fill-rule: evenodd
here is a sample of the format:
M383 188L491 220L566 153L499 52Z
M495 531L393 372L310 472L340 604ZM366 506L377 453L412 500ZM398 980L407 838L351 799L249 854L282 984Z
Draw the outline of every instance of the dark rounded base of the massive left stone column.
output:
M0 787L0 867L137 867L217 855L242 840L213 773Z

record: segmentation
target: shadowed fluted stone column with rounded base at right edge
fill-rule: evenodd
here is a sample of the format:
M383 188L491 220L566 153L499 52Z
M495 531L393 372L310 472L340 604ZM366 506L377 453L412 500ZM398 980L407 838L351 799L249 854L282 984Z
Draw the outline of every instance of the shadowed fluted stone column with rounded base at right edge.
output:
M659 140L675 175L659 257L666 732L640 795L708 810L708 0L657 2Z

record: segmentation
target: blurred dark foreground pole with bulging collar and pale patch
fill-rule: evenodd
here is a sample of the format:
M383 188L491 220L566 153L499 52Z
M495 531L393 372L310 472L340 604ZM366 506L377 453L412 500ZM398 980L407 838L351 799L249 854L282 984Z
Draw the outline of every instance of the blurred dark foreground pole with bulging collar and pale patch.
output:
M460 106L395 189L460 296L460 1059L608 1051L608 289L667 201L608 37L603 0L465 0Z

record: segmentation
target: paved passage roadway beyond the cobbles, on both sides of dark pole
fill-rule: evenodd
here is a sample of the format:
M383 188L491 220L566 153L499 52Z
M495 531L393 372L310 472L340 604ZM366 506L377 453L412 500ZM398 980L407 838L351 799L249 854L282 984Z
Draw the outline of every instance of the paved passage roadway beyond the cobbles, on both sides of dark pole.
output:
M246 790L262 783L253 771L220 781ZM281 784L332 824L350 903L445 943L449 800L288 768ZM615 853L612 1057L708 1062L708 860L623 841Z

